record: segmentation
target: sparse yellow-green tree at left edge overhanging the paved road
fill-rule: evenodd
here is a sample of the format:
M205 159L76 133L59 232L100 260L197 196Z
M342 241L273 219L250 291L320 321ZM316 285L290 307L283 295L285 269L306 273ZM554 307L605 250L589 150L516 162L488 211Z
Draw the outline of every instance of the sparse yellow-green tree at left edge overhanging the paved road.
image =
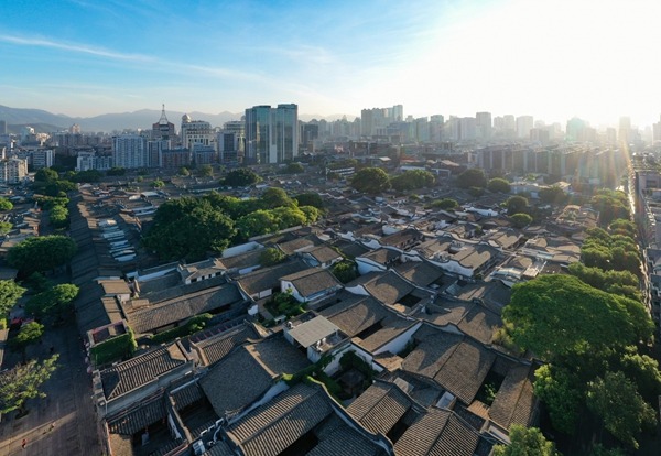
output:
M45 398L41 386L51 378L56 369L58 355L39 362L35 359L24 365L6 370L0 373L0 413L18 410L19 414L25 411L25 401L33 398Z

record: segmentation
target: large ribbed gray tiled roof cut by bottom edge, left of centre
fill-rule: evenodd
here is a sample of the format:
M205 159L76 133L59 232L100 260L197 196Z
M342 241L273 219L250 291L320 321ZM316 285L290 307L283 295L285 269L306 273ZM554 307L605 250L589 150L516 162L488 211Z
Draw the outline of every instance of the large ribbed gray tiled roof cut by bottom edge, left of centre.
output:
M246 455L275 456L330 413L321 388L299 383L232 423L227 434Z

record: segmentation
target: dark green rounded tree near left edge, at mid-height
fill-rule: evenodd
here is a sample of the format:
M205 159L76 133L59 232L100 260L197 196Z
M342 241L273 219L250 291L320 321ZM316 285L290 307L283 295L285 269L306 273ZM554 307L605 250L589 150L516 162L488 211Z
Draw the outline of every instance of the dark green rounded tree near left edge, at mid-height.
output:
M28 238L7 253L7 263L22 274L50 271L67 264L76 254L76 242L66 236L52 235Z

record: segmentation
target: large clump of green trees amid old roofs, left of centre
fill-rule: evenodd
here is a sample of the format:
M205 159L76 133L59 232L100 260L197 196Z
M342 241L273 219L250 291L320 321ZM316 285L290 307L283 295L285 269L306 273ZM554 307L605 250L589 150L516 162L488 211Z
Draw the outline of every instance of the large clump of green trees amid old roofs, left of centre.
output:
M299 206L281 188L250 199L217 193L183 197L159 207L143 243L162 259L194 261L253 236L311 224L319 215L314 206Z

